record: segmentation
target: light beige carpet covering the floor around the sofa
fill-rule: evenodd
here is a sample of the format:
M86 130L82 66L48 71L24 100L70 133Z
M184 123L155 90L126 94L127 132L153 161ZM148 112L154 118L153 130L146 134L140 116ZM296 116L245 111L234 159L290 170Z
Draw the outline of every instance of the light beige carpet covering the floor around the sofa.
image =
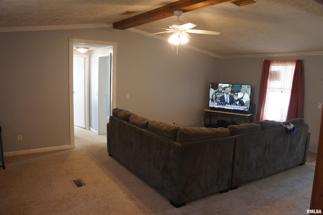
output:
M106 151L106 136L75 130L75 149L5 157L0 214L306 214L314 167L303 165L175 208ZM75 187L81 179L85 186Z

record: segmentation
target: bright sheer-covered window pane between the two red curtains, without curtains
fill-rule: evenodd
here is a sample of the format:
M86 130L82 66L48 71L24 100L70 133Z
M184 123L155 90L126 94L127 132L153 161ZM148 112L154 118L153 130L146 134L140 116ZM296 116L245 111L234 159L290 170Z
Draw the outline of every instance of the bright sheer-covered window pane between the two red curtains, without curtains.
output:
M287 119L296 61L271 61L263 120Z

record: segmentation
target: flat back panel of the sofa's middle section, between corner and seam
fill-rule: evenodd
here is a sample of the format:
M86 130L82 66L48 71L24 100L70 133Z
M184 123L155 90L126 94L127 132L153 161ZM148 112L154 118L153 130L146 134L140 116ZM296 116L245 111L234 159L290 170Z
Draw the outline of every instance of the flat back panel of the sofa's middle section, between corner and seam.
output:
M180 143L177 203L228 190L233 150L231 136Z

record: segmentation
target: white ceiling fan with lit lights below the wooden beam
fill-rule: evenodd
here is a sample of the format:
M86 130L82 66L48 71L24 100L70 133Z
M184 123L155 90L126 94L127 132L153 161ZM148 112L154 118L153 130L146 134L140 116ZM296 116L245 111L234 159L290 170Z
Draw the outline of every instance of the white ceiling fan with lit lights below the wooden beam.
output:
M169 24L170 28L157 28L157 29L165 29L167 31L157 32L149 35L154 34L162 34L162 33L173 33L168 41L174 45L184 44L189 41L190 35L188 33L195 33L195 34L210 34L210 35L219 35L220 32L216 31L206 31L206 30L197 30L192 29L196 27L196 25L192 23L184 23L180 20L180 16L183 15L183 11L174 11L174 15L177 16L177 20L173 21ZM144 26L140 26L144 27ZM154 27L144 27L144 28L154 28Z

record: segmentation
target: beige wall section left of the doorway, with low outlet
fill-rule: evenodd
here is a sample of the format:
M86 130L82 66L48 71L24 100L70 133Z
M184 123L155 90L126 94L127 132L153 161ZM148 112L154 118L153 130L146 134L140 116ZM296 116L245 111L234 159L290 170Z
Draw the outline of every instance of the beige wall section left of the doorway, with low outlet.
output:
M4 152L70 144L68 33L0 33Z

